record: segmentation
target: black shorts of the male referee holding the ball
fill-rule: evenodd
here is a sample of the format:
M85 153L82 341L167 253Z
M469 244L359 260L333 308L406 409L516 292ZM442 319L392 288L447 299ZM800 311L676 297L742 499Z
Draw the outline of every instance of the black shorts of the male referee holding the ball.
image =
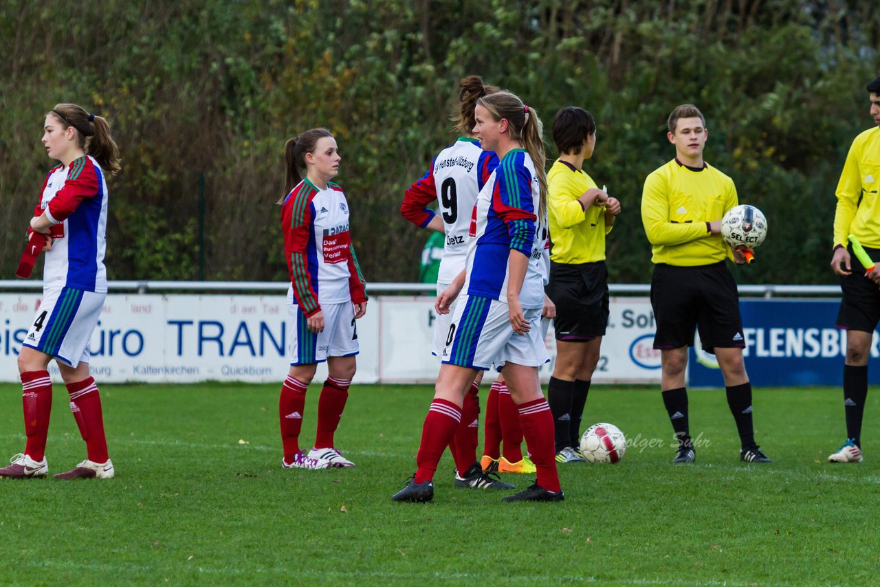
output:
M658 263L651 278L655 349L693 347L694 330L709 353L744 349L737 282L724 261L697 267Z

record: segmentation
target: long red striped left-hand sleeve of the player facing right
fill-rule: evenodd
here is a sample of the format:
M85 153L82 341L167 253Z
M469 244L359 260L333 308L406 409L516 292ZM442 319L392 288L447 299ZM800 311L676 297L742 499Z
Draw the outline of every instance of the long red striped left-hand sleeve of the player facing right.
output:
M312 317L321 310L318 304L318 292L312 282L317 268L310 268L308 259L309 243L313 240L312 199L315 194L313 188L301 183L282 207L284 253L290 268L290 283L293 286L297 305L306 318Z

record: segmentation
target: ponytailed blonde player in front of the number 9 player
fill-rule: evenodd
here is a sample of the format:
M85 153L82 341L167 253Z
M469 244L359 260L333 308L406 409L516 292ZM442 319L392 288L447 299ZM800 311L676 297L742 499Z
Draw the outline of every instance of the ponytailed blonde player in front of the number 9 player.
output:
M546 243L541 123L538 113L510 92L478 99L474 114L473 134L482 149L495 151L500 164L477 197L466 271L437 298L436 311L445 313L461 292L422 429L418 469L392 499L433 499L437 462L458 429L464 397L477 372L495 363L519 407L538 473L530 488L503 499L561 501L553 416L538 378L539 366L549 360L538 327L545 299L540 264Z

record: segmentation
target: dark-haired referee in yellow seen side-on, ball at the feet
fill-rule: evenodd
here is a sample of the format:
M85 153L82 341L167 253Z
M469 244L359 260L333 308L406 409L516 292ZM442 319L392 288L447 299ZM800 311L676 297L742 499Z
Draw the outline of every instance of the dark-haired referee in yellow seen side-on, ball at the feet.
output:
M583 407L608 326L608 269L605 235L620 214L620 202L598 189L583 171L596 148L596 121L576 106L554 119L560 156L547 173L550 217L550 283L556 305L556 363L547 403L553 412L556 460L585 462L577 450Z

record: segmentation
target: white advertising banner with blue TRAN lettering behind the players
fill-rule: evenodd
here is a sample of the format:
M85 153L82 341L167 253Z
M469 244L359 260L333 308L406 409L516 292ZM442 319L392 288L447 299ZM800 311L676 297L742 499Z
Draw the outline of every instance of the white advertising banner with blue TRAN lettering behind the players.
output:
M16 357L40 294L0 295L0 380L18 381ZM356 383L433 382L430 354L434 297L373 297L357 321L361 353ZM280 382L288 371L290 320L283 296L107 296L92 334L92 374L101 382ZM657 383L651 349L654 315L646 297L613 297L609 328L593 381ZM551 326L547 349L555 356ZM57 368L50 372L57 380ZM541 368L546 381L553 363ZM319 365L316 380L326 376ZM490 375L491 376L491 375Z

